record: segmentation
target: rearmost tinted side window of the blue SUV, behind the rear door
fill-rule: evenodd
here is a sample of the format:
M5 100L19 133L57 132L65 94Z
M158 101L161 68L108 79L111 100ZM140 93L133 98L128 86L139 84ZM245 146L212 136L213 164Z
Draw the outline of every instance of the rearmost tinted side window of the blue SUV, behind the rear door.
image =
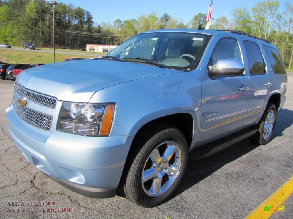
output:
M270 64L275 74L286 74L284 62L281 58L279 51L270 46L264 46L265 52L268 55Z

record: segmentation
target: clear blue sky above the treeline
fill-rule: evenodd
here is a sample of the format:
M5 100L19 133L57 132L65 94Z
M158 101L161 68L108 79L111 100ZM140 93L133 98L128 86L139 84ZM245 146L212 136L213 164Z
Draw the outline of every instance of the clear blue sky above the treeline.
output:
M284 11L285 2L279 0L279 11ZM292 0L289 0L292 2ZM58 2L58 1L57 1ZM113 23L116 19L122 21L137 18L141 14L156 12L158 17L163 13L168 13L179 22L186 24L191 18L198 13L207 13L210 0L124 0L124 1L97 1L97 0L62 0L64 4L73 4L75 7L80 6L88 10L93 15L93 20L98 24L102 21ZM242 8L246 6L249 10L257 3L258 0L214 0L212 18L218 18L225 15L231 18L233 8Z

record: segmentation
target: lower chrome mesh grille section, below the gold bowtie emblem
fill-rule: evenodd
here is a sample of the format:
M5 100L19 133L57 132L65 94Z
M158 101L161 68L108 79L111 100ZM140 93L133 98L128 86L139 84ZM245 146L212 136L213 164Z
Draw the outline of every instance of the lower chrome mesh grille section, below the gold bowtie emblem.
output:
M28 109L27 107L21 107L21 105L19 105L15 99L13 99L13 106L15 112L21 117L23 121L43 130L50 131L53 118L52 116Z

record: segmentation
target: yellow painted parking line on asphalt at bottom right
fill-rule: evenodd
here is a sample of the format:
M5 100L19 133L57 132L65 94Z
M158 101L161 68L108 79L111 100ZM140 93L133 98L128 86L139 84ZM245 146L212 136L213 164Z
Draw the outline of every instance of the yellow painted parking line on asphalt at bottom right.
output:
M293 176L282 185L276 192L268 197L262 204L260 204L253 212L246 216L246 219L260 219L269 218L275 211L263 211L265 206L279 206L281 205L293 192ZM285 208L286 211L286 208ZM292 211L292 209L288 209ZM279 212L278 212L279 213ZM282 214L282 212L280 212Z

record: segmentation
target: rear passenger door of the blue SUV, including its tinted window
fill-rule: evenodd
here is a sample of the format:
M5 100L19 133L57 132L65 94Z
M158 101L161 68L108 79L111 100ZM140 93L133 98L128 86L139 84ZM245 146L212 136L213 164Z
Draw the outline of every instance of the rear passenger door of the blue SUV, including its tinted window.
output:
M246 69L249 69L249 102L248 117L244 125L258 122L265 110L268 88L272 85L269 81L269 69L266 67L263 51L257 40L244 40L244 50L247 58Z

